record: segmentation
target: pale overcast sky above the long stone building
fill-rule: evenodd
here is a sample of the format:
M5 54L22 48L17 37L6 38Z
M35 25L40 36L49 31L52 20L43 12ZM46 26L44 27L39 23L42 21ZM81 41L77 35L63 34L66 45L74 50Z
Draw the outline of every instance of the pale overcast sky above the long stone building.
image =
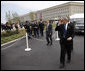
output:
M69 1L1 1L1 23L6 22L5 13L8 11L11 13L17 12L18 15L24 15L31 11L49 8L66 2Z

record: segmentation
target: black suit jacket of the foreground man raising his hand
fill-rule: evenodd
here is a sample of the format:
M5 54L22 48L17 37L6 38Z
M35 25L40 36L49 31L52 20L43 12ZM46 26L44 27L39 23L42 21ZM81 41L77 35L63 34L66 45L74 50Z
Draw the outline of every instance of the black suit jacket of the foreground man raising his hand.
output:
M67 41L67 38L72 37L72 40L67 41L67 43L72 44L73 43L73 37L74 37L74 23L69 23L68 27L67 27L67 37L64 38L64 24L61 24L58 26L58 24L56 25L55 31L59 32L59 37L60 37L60 41L62 43L65 42L65 40Z

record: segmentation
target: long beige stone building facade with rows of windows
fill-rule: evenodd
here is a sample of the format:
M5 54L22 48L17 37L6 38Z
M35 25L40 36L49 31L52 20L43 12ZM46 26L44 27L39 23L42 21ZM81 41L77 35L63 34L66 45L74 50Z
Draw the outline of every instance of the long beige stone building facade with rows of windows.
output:
M36 11L36 20L52 20L55 18L71 16L76 13L84 13L84 3L68 2ZM20 17L21 21L30 20L29 13Z

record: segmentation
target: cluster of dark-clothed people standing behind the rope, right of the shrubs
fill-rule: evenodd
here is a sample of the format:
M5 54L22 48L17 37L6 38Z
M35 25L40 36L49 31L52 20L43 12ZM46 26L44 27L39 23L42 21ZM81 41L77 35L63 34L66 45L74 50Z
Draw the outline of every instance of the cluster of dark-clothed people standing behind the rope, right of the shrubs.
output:
M28 38L31 38L31 36L34 36L35 38L39 38L39 36L44 36L43 31L44 31L44 23L41 21L33 21L29 22L26 21L24 25L27 33L28 33Z

